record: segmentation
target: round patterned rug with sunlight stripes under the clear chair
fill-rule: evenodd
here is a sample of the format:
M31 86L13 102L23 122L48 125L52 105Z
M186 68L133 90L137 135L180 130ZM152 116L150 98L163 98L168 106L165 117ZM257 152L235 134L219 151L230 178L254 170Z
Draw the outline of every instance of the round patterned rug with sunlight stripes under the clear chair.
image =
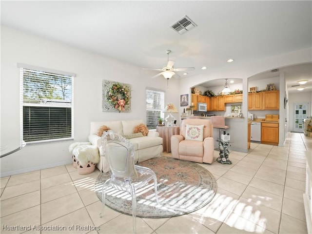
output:
M160 204L156 203L154 186L137 191L137 216L171 217L191 213L209 203L216 193L214 176L195 162L172 157L158 157L138 165L151 168L157 176ZM102 173L95 183L96 194L102 200L101 188L109 173ZM131 195L107 188L105 204L123 214L132 215ZM104 211L105 213L105 211Z

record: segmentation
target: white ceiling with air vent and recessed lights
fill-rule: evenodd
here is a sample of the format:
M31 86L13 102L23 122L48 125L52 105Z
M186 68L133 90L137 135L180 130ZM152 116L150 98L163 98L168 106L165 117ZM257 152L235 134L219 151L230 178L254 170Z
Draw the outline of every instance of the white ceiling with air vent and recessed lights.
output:
M0 4L1 25L141 68L164 67L170 49L175 67L195 67L189 77L204 73L202 66L225 66L230 58L235 59L234 66L312 47L312 1L1 0ZM197 27L179 35L170 26L186 15ZM311 63L280 71L289 87L309 79L306 90L312 90ZM268 76L272 73L259 78Z

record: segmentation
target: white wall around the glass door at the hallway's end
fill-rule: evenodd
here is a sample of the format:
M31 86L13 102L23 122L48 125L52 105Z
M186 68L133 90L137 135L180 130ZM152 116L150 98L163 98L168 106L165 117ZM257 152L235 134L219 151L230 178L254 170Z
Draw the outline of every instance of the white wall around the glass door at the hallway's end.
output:
M307 116L312 115L311 103L312 103L312 92L296 92L288 93L288 131L291 132L293 128L293 104L294 103L305 103L308 102L309 113Z

